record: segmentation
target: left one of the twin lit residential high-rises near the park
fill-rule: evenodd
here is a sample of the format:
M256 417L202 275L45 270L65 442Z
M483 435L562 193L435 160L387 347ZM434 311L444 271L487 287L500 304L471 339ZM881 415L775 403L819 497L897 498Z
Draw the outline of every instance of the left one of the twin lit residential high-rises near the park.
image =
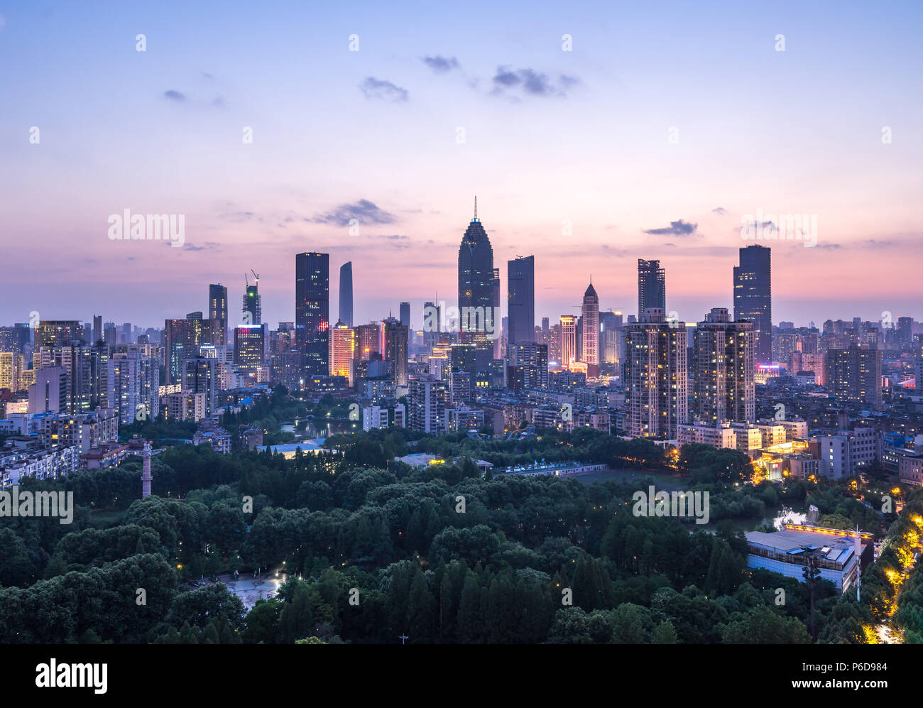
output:
M627 426L635 438L676 438L689 418L687 333L659 307L625 327Z

